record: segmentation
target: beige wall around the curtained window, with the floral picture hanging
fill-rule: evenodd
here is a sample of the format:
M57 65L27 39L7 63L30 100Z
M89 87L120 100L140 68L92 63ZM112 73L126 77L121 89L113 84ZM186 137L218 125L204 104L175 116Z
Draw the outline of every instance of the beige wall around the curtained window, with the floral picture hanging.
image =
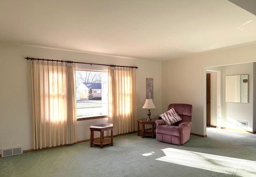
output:
M64 51L16 45L0 42L0 149L23 146L30 149L30 62L24 57L72 60L89 63L138 66L137 118L146 118L147 110L142 109L146 100L146 78L154 79L154 104L152 118L162 112L162 64L157 61L95 55L82 52ZM84 69L102 69L95 65L78 65ZM107 122L106 118L85 120L77 123L78 141L90 139L89 126Z

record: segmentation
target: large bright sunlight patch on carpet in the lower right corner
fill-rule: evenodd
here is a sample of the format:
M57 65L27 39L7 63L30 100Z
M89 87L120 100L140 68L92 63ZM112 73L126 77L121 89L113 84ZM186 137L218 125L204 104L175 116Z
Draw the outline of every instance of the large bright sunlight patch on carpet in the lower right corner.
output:
M172 148L162 149L162 151L164 151L166 156L156 160L219 173L255 177L256 161Z

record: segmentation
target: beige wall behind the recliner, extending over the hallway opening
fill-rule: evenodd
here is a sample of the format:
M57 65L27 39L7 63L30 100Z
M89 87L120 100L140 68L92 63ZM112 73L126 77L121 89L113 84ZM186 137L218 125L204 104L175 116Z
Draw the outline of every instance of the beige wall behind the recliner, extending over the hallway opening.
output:
M170 103L192 104L191 132L206 135L206 67L254 62L255 51L256 45L253 44L164 61L162 63L163 111Z

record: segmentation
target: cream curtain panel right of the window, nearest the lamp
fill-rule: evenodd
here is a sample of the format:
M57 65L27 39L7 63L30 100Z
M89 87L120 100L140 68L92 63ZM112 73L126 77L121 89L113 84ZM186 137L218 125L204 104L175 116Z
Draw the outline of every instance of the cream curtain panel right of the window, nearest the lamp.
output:
M135 68L108 67L108 105L113 135L137 130Z

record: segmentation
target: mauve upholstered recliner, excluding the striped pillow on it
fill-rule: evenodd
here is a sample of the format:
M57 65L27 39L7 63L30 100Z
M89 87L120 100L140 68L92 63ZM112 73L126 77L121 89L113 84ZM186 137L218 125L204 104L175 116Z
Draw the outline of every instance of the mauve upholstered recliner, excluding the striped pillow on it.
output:
M192 105L170 104L168 110L171 108L174 108L182 120L172 125L166 125L164 120L156 120L156 139L170 144L184 144L190 138Z

